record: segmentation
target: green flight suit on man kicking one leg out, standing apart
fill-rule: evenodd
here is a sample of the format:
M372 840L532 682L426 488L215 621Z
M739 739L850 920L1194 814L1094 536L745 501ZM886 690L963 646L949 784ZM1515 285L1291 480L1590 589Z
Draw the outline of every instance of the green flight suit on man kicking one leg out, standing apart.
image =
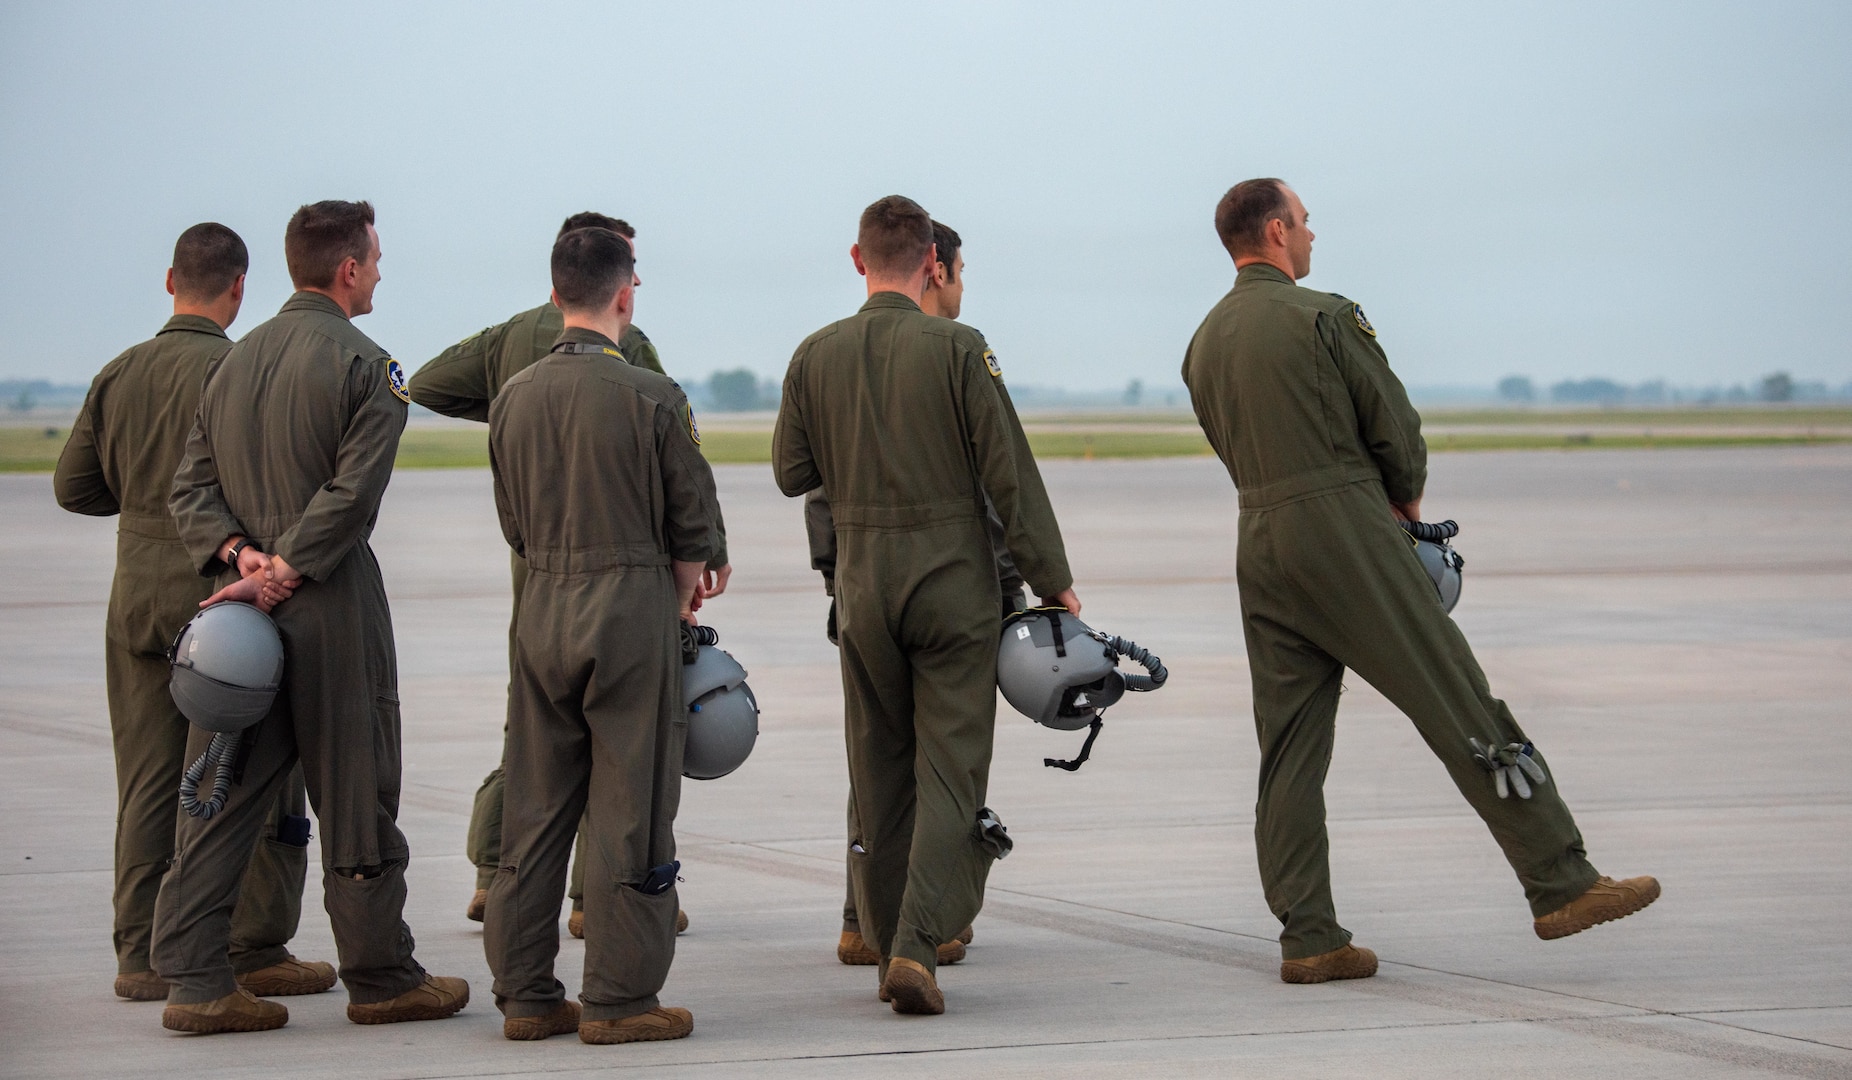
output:
M1526 741L1389 511L1428 476L1420 417L1356 304L1243 267L1183 382L1241 493L1235 582L1261 780L1254 843L1285 960L1341 948L1324 832L1345 669L1408 713L1545 915L1595 882L1554 774L1500 800L1469 739ZM1541 752L1537 763L1545 763Z

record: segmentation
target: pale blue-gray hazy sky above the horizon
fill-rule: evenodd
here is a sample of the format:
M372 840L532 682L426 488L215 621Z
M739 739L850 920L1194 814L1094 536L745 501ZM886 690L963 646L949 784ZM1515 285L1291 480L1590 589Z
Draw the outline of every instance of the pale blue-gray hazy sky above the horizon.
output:
M7 0L0 378L154 333L200 220L250 245L250 330L320 198L374 204L359 326L411 369L543 302L598 209L672 376L780 378L902 193L963 233L1011 383L1172 385L1248 176L1300 193L1304 285L1409 385L1852 380L1852 6L1769 0Z

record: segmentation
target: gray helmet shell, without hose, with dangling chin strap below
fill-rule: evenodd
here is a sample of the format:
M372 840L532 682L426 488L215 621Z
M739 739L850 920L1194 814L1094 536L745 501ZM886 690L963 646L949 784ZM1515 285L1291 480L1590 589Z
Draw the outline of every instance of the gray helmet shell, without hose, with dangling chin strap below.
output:
M1048 609L1022 611L1004 624L996 643L996 687L1013 710L1063 732L1093 724L1098 710L1126 693L1119 658L1085 622Z

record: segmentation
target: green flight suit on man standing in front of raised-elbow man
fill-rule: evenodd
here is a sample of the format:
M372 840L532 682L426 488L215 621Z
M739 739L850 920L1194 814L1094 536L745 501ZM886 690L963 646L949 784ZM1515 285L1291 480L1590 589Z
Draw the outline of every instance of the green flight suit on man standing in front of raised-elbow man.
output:
M494 1000L509 1017L565 998L554 961L574 832L583 1019L656 1008L676 950L672 873L661 893L637 885L676 858L687 710L670 559L719 554L719 502L687 398L607 348L602 333L570 328L489 408L494 506L528 563L502 865L483 919Z

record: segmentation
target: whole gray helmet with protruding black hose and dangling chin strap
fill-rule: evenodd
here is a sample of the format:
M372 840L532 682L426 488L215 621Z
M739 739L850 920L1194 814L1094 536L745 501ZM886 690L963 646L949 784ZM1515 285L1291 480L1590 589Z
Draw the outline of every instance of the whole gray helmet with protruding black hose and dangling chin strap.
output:
M1119 671L1124 656L1150 674ZM1087 761L1093 739L1109 706L1126 691L1152 691L1170 672L1163 661L1124 637L1093 630L1065 608L1030 608L1004 619L1004 637L996 645L996 687L1024 717L1063 732L1087 732L1087 743L1072 761L1045 758L1045 765L1072 772Z

